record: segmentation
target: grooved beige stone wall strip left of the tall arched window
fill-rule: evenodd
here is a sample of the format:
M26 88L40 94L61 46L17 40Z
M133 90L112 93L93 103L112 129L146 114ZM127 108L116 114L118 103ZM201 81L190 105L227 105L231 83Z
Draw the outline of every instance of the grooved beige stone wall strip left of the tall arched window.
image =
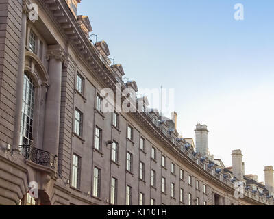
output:
M0 144L3 145L12 145L21 14L21 0L0 2Z

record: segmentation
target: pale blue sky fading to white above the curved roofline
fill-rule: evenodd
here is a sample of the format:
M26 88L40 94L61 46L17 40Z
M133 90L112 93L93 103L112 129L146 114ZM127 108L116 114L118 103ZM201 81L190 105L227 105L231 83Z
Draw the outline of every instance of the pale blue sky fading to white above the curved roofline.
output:
M242 149L246 174L264 181L274 165L273 0L82 0L78 14L139 88L175 89L184 137L208 125L210 153L231 166Z

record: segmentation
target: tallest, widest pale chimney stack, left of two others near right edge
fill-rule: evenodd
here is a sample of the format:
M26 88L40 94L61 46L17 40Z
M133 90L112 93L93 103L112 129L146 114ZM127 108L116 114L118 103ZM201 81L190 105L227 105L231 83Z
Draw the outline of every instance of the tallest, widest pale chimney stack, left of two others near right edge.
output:
M205 157L208 157L208 132L206 125L198 124L196 126L196 152Z

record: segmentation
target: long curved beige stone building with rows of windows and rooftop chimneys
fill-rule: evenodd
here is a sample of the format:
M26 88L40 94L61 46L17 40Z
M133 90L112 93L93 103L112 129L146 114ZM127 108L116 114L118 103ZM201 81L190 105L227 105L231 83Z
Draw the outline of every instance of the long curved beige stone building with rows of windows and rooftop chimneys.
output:
M273 205L273 168L267 188L225 168L207 154L206 126L195 151L157 110L101 111L103 88L138 86L91 42L80 2L0 3L0 205Z

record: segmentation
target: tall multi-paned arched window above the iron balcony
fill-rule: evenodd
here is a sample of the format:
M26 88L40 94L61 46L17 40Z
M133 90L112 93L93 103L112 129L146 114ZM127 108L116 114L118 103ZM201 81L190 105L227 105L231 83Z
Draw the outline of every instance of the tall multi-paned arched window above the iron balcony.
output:
M28 75L24 75L23 86L23 105L21 114L21 141L23 146L32 143L33 126L34 126L34 98L35 87L34 81Z

